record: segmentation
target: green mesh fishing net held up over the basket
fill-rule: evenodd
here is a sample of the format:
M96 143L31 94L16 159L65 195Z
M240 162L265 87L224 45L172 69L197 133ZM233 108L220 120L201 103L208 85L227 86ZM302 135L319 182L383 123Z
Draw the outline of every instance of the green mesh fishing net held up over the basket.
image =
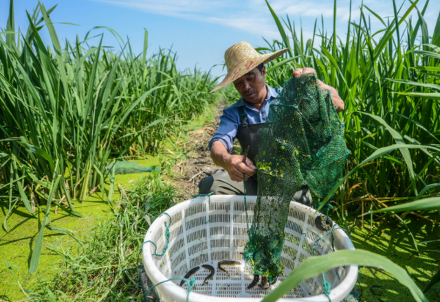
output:
M256 156L258 196L244 259L270 283L283 271L281 253L289 203L308 185L325 198L342 177L350 151L329 91L308 73L287 80L270 104Z

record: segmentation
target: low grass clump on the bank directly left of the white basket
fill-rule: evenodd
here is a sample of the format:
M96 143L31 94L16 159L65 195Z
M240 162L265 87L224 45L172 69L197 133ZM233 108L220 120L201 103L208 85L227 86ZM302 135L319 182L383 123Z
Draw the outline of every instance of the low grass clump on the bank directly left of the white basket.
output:
M133 189L120 187L120 200L112 217L98 222L78 251L52 246L63 258L58 274L39 283L32 297L47 301L58 297L65 301L132 301L142 296L138 270L142 242L151 220L173 206L175 189L163 183L157 172L137 180ZM142 209L142 211L140 211ZM66 281L69 280L69 281Z

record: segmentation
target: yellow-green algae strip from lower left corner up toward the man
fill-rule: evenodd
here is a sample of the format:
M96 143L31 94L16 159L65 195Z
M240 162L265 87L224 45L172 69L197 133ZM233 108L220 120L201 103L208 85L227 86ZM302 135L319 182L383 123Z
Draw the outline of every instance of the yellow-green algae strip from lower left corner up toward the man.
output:
M197 130L203 125L209 123L212 120L212 111L215 108L217 108L217 105L207 108L206 114L188 122L183 129ZM186 136L185 132L182 132L179 137L171 138L171 141L175 142L178 139L180 139L180 141L188 141L188 136ZM169 151L173 153L170 153ZM147 155L142 159L135 159L135 161L146 167L161 165L165 161L175 160L179 157L180 153L181 151L177 150L173 143L167 141L164 144L162 152L157 156ZM126 189L131 189L135 180L139 179L144 174L146 173L115 175L112 200L118 200L119 198L118 184ZM106 194L108 194L110 188L108 178L104 183L104 187L106 189ZM0 206L0 220L3 221L6 213L5 204L3 203ZM45 207L41 207L41 209L44 211ZM69 214L61 209L58 209L58 213L55 214L54 209L52 209L50 219L53 226L69 229L80 240L91 229L96 227L96 221L98 219L106 217L111 211L111 207L108 205L107 200L102 198L102 193L100 191L87 197L84 202L74 202L74 209L81 213L83 217L77 218L69 216ZM13 284L16 283L17 280L15 280L9 272L5 261L7 261L10 266L13 266L12 269L14 270L15 275L18 276L19 283L23 285L23 281L26 280L23 287L32 288L32 286L38 282L38 278L50 279L56 273L56 270L53 268L58 267L57 263L61 260L61 257L50 250L52 244L56 244L65 249L76 246L74 239L71 236L62 235L51 231L50 229L45 229L39 268L34 274L26 277L33 245L36 236L39 233L43 217L44 213L42 213L41 210L37 211L35 216L32 216L23 207L18 207L17 209L14 209L13 215L8 218L7 224L10 232L6 233L3 229L0 230L0 255L2 256L0 259L0 299L17 301L26 298L25 294L21 292L20 287ZM74 253L74 251L71 251L71 253Z

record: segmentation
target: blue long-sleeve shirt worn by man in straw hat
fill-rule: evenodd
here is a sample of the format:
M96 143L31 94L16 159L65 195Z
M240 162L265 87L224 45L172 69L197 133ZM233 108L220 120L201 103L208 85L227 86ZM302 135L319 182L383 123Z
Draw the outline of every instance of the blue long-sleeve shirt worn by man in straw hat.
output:
M243 97L241 97L235 104L223 109L223 115L220 117L219 129L212 136L209 142L208 148L211 149L212 142L221 141L225 145L228 152L232 150L232 143L236 137L236 132L239 128L240 114L239 107L244 105L245 115L248 118L248 124L264 123L269 115L269 105L270 103L278 97L276 90L266 84L267 95L263 103L261 111L256 110L248 104Z

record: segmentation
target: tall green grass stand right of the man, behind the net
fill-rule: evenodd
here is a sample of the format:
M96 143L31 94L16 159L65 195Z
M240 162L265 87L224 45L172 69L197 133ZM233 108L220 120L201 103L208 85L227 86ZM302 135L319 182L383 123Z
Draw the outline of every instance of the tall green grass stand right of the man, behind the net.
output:
M360 19L350 17L347 38L340 38L335 1L334 34L327 36L323 23L316 21L314 34L307 41L303 29L298 32L289 16L281 20L270 8L283 40L268 42L259 51L284 47L289 51L269 63L267 80L281 86L294 69L313 67L318 78L338 89L345 104L341 113L345 138L352 152L347 172L374 151L396 143L439 146L440 17L430 34L423 19L429 0L422 10L418 3L414 1L406 11L395 5L395 16L388 20L362 5ZM408 17L412 11L417 11L417 20ZM366 13L377 18L383 28L372 32ZM347 179L344 197L413 198L426 185L439 183L439 154L427 148L385 154ZM362 185L349 196L350 189L359 183ZM435 191L439 190L425 193Z

